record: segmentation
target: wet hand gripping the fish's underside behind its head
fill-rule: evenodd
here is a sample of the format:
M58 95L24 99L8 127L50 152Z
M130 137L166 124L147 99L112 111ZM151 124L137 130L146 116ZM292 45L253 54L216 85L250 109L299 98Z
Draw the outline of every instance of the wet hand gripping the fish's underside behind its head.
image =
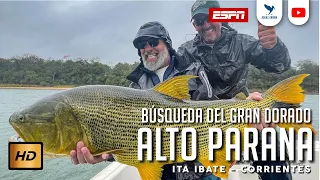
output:
M101 154L99 156L93 156L87 147L84 147L84 143L79 141L77 143L77 149L70 152L71 160L73 164L96 164L102 161L106 161L111 157L109 154Z

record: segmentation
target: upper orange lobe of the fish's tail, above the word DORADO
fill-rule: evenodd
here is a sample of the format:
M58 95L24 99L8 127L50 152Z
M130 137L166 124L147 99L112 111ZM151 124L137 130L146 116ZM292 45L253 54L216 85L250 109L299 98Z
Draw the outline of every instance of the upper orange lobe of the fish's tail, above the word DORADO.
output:
M285 79L270 89L264 95L271 96L275 101L286 104L299 104L304 101L303 89L299 86L303 79L310 74L300 74L297 76Z

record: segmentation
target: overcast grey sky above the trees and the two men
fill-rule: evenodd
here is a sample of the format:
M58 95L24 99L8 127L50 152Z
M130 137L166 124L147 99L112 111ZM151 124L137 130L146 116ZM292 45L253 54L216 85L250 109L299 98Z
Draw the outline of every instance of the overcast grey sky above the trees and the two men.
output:
M25 53L42 58L99 57L104 64L138 61L132 45L138 28L159 21L167 28L175 49L194 37L190 8L194 1L0 1L0 57ZM221 1L224 7L248 7L249 23L234 23L239 33L257 37L255 1ZM319 61L319 1L310 1L310 18L303 26L284 15L276 26L293 64Z

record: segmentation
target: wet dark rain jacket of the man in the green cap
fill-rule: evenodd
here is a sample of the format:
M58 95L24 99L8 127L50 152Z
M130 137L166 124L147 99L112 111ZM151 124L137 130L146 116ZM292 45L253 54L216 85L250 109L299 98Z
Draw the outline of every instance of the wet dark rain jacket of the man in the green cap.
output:
M182 44L178 54L186 61L199 61L207 73L213 94L219 99L233 98L239 92L248 95L248 64L266 72L282 73L290 68L291 59L285 44L278 38L272 49L264 49L253 36L240 34L228 25L213 45L205 44L197 34Z

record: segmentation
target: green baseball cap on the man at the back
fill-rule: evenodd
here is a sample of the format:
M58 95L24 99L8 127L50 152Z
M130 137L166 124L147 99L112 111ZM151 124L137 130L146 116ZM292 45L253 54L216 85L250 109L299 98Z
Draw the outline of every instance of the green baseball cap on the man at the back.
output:
M220 8L217 0L197 0L191 7L191 20L197 14L209 14L209 8Z

